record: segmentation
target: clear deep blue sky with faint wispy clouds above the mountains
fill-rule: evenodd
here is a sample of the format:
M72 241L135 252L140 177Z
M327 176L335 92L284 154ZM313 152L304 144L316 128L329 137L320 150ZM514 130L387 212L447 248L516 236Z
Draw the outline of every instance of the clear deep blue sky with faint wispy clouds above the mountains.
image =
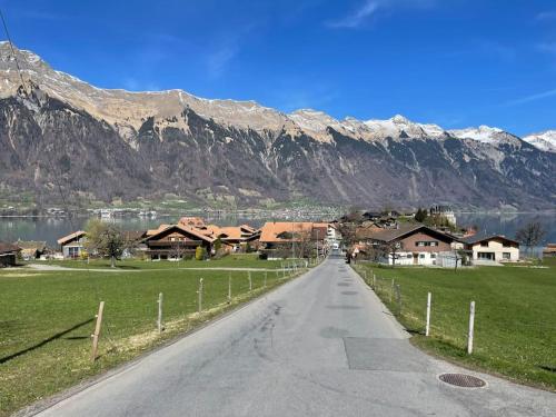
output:
M13 42L106 88L337 118L556 129L555 0L6 1Z

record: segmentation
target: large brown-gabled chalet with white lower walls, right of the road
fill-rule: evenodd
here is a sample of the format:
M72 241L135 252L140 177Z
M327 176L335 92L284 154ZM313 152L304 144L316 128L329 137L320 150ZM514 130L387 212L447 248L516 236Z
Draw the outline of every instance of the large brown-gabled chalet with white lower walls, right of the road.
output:
M367 250L388 265L436 265L438 254L451 251L455 240L425 225L404 225L373 234Z

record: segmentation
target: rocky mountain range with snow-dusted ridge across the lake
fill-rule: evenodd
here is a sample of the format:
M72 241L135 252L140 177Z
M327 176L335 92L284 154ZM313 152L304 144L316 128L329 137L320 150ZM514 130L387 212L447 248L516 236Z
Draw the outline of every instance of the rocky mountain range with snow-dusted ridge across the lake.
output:
M500 129L337 120L181 90L99 89L0 43L0 190L40 203L171 192L199 202L554 208L556 153Z

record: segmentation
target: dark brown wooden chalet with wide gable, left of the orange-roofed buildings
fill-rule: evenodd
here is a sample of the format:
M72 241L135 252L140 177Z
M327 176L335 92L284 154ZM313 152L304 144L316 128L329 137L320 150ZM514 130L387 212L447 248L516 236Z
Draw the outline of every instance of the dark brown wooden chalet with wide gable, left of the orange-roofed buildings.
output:
M148 232L141 242L147 246L145 254L151 260L179 260L195 257L199 246L205 249L207 257L212 256L215 240L216 238L207 236L202 230L170 225L156 229L152 234Z

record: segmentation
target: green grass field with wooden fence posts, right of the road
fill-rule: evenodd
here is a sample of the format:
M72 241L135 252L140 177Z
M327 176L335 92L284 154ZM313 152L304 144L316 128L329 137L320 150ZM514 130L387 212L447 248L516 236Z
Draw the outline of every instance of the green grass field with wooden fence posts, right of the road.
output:
M556 259L548 268L480 267L454 270L356 266L414 332L423 349L464 366L556 391ZM400 286L401 315L391 279ZM427 292L433 294L430 337L425 337ZM467 355L469 302L476 302L475 344Z

